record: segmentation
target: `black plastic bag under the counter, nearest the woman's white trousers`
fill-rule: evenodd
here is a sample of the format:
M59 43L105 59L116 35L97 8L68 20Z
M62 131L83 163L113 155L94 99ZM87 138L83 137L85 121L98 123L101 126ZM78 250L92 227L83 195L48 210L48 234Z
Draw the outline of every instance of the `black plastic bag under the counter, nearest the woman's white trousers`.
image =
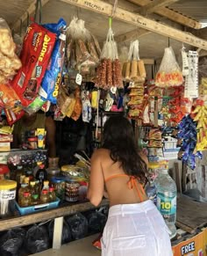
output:
M105 223L107 221L107 216L103 215L103 213L99 211L95 211L89 214L88 222L89 222L89 231L98 233L103 232Z

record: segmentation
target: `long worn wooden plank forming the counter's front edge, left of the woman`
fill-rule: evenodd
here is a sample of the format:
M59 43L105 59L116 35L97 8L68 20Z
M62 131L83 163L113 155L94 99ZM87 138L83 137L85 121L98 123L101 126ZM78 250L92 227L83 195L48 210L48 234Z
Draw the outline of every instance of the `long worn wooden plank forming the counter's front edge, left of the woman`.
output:
M103 199L98 208L102 206L108 206L109 201ZM61 216L74 215L76 213L94 209L94 207L89 201L87 202L77 202L77 203L66 203L59 208L54 208L46 211L41 211L38 213L33 213L25 216L12 216L10 218L0 220L0 231L9 230L15 227L26 226L32 223L45 222L49 219L54 219Z

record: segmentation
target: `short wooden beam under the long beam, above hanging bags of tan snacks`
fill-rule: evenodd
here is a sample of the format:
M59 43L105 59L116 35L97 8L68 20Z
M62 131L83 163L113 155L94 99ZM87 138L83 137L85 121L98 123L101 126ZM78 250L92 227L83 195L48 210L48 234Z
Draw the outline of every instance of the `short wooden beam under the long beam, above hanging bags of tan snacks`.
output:
M136 39L139 39L139 37L146 35L148 33L151 33L151 32L143 28L138 28L128 33L123 33L123 34L119 34L118 36L115 36L115 40L118 43L125 42L128 40L136 40Z

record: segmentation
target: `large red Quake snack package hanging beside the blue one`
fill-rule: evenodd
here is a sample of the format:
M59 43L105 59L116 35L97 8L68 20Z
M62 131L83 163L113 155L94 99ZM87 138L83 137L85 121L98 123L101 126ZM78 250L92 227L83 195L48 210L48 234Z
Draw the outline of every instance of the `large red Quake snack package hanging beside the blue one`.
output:
M56 34L32 23L27 28L20 59L22 68L11 81L22 106L28 106L37 97L42 77L53 52Z

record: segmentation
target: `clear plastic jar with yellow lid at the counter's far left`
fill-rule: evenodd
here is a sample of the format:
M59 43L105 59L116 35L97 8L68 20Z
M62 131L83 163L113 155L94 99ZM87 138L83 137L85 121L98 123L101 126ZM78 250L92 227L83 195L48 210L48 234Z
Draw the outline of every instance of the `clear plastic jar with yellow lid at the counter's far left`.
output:
M15 210L17 182L0 180L0 217L11 216Z

